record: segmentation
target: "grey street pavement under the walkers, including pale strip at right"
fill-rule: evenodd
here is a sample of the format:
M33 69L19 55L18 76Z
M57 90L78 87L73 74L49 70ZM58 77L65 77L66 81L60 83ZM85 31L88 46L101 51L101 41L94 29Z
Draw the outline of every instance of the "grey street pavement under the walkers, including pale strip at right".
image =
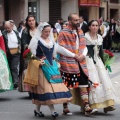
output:
M80 113L80 107L69 105L73 112L72 116L62 115L62 105L55 105L56 111L60 114L57 120L119 120L120 119L120 53L115 53L117 59L111 66L110 74L116 92L116 110L105 114L102 109L96 115L86 117ZM28 93L20 93L17 90L0 93L0 120L52 120L50 110L42 106L44 118L35 117L33 114L35 106L31 103Z

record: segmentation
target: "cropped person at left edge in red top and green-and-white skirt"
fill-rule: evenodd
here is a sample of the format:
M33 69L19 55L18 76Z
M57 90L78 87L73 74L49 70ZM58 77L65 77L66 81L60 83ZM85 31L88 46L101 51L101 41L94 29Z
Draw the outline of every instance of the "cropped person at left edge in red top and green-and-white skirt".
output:
M0 31L0 92L12 89L12 76L6 58L4 40Z

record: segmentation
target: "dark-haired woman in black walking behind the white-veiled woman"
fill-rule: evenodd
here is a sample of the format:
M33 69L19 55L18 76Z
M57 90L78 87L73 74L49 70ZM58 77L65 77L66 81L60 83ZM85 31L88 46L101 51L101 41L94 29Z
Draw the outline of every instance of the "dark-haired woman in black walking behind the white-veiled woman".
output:
M19 92L29 92L29 86L23 83L25 72L27 69L28 60L23 58L23 52L28 47L30 40L34 36L38 23L33 15L28 15L26 18L26 28L22 32L21 36L21 62L20 62L20 79L18 84Z

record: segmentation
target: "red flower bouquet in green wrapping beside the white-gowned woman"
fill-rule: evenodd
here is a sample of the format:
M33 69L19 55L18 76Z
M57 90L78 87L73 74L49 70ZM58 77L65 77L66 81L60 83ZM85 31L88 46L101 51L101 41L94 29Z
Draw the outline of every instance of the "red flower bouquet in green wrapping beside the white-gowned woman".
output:
M112 69L110 65L114 62L116 59L116 56L110 52L109 50L104 50L103 60L105 63L105 67L109 70L109 72L112 72Z

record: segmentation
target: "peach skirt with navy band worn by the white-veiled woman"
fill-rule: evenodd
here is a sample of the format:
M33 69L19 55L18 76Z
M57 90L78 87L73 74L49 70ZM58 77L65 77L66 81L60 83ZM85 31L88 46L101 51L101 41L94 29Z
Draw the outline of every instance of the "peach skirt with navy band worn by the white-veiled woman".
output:
M39 69L39 83L30 87L32 103L36 105L50 105L70 102L72 95L64 83L51 84Z

